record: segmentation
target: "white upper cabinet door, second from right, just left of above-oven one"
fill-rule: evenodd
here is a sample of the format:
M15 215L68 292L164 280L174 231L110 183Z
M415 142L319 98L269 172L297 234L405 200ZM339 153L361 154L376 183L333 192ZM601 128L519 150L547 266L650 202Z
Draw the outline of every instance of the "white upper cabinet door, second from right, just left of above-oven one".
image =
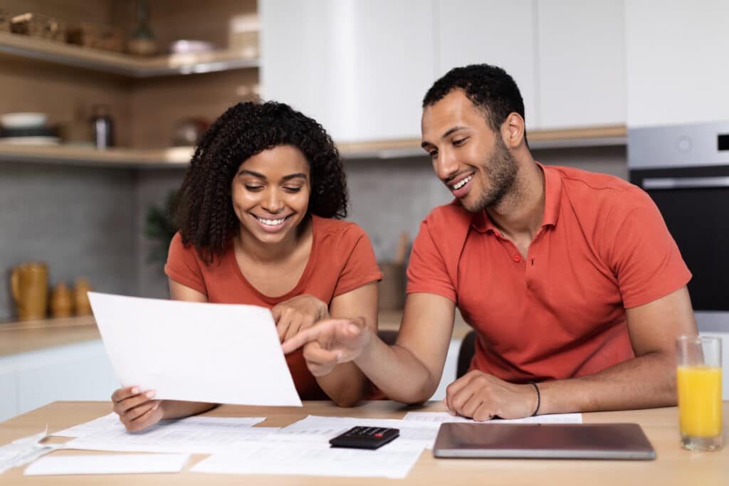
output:
M536 5L539 128L625 125L623 1L542 0Z

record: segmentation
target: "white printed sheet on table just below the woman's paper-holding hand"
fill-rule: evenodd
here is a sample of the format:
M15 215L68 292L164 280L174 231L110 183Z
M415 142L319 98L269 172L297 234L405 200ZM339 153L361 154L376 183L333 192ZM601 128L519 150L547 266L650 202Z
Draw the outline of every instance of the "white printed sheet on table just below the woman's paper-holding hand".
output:
M115 423L66 442L64 446L78 450L211 454L278 431L276 427L252 427L262 420L265 418L188 417L163 420L139 432L128 432L121 423Z

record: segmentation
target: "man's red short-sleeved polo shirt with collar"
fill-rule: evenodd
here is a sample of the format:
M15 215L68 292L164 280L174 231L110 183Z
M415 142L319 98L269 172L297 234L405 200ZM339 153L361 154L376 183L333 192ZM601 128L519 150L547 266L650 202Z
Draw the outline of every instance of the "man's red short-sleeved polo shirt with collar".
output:
M486 211L457 200L422 222L408 293L456 302L477 331L472 369L515 383L590 375L634 357L625 309L691 278L658 208L604 174L545 167L526 259Z

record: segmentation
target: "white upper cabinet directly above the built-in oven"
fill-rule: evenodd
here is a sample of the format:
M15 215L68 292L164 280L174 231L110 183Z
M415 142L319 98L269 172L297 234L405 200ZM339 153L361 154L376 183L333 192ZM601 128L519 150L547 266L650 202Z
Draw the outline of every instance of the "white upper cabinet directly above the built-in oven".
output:
M729 119L729 1L625 2L628 127Z

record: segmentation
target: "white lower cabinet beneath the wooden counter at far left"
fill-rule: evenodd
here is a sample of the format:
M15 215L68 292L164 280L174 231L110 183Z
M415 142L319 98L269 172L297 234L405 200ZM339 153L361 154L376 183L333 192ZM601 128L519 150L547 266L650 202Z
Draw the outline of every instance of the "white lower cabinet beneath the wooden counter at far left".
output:
M57 400L109 400L119 388L101 340L0 358L0 420Z

